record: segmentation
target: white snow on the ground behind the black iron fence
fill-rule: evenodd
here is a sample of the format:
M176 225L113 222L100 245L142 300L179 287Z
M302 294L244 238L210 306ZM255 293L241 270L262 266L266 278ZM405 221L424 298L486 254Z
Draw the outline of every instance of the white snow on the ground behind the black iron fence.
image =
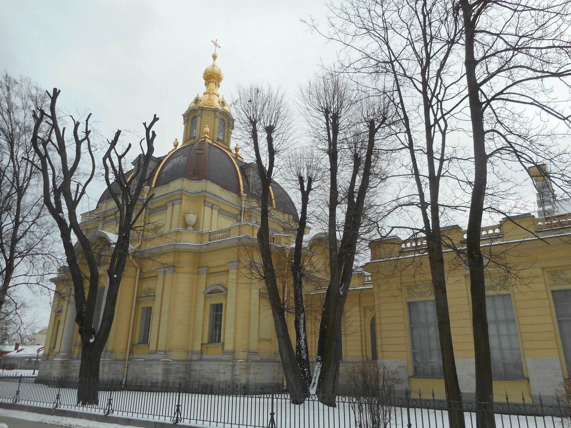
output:
M19 393L18 384L20 384ZM35 383L32 379L23 379L21 383L14 379L0 379L0 401L12 402L15 397L18 397L19 403L51 408L58 394L58 407L61 409L103 414L111 398L113 415L152 421L171 422L177 404L180 403L180 417L182 418L180 422L200 427L222 424L227 427L267 427L272 412L277 428L292 426L344 428L360 425L359 407L351 405L347 397L339 397L336 407L327 407L315 397L306 400L303 405L292 405L286 394L178 394L176 387L170 387L158 391L102 390L99 393L98 406L79 407L76 405L76 389L47 386ZM360 409L367 410L364 407ZM391 428L406 427L408 415L410 415L412 426L415 427L448 428L449 426L447 411L426 408L407 409L406 407L392 407L391 422L388 426ZM361 413L362 417L367 417L366 411ZM474 413L465 412L464 417L467 427L476 426ZM496 415L496 424L502 428L529 426L561 428L564 427L563 422L561 418L552 417Z

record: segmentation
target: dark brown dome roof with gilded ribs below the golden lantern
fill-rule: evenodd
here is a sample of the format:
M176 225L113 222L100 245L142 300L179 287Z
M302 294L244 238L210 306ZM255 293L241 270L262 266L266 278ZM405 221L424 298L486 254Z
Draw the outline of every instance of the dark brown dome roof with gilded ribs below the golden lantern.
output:
M161 162L151 174L151 187L159 187L180 178L206 179L236 193L236 195L244 192L248 196L253 196L248 176L252 176L252 170L255 168L248 168L250 164L236 159L234 155L222 147L205 140L184 144L184 146L159 159ZM250 173L246 173L247 168ZM257 172L254 173L257 175ZM127 176L129 174L130 172L127 172ZM116 191L118 190L117 188ZM295 204L282 186L272 181L272 192L275 208L298 220ZM98 203L109 199L111 199L111 193L106 189Z

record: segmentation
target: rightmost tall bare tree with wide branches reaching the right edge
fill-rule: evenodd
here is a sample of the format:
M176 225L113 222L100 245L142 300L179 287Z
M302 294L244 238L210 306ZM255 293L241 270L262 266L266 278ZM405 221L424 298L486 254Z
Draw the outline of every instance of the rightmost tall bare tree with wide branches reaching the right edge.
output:
M553 129L532 126L533 119L569 126L571 2L460 0L464 67L471 124L474 176L467 231L472 329L476 360L476 399L492 400L492 364L485 300L485 261L481 251L482 215L489 209L488 167L494 159L529 165L550 164L552 178L565 179L549 140ZM553 82L553 83L550 83ZM558 84L554 91L553 84ZM563 102L565 101L565 102ZM531 129L530 129L531 128ZM538 132L540 131L540 132ZM561 156L561 160L568 160ZM541 168L542 171L548 169ZM478 427L494 426L491 406L478 413Z

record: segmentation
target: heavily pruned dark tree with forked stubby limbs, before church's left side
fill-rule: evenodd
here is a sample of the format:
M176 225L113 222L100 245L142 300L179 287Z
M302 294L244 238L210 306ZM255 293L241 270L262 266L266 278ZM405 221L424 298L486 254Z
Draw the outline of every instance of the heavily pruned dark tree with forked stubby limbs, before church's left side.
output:
M60 91L54 88L49 95L50 108L34 111L35 126L31 143L38 160L34 162L43 177L43 201L57 223L73 281L75 306L81 336L81 365L79 367L78 403L98 403L99 362L107 342L115 314L115 304L123 270L130 254L131 233L153 195L148 194L149 163L154 151L155 132L152 127L159 120L156 115L145 128L140 140L140 154L131 171L125 169L131 144L118 148L121 131L108 140L103 156L107 188L115 202L117 234L115 242L99 245L90 240L78 221L78 209L84 201L87 187L96 169L95 153L90 134L90 117L81 123L73 122L73 137L67 139L66 127L58 118L57 100ZM46 135L40 132L46 126ZM83 128L83 130L82 130ZM77 245L73 240L77 239ZM99 329L94 328L96 298L99 289L99 261L107 260L108 288ZM85 286L87 282L87 286ZM87 293L86 293L87 288Z

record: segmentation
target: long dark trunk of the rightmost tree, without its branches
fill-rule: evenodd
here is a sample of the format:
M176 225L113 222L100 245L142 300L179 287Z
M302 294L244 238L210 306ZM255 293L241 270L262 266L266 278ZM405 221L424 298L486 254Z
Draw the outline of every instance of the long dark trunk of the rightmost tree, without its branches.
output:
M480 411L476 413L478 428L494 428L496 426L492 389L492 358L488 337L488 317L486 313L486 293L484 284L484 259L480 249L482 213L487 184L487 162L484 132L484 114L480 101L480 86L476 78L475 26L472 5L462 0L460 7L463 14L465 31L465 59L468 101L472 122L472 139L474 146L474 183L472 200L468 217L466 239L468 268L470 271L470 294L472 297L472 331L474 334L474 358L476 360L476 401L480 402Z

